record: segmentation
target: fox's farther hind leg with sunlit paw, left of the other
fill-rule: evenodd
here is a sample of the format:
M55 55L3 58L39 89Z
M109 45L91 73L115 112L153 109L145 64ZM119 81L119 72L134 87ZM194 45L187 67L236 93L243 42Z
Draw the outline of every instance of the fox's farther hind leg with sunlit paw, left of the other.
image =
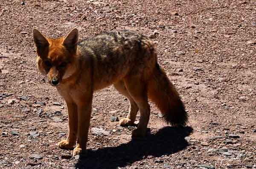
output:
M134 102L131 95L128 93L127 89L125 88L125 83L122 80L115 83L114 87L116 88L116 90L119 93L121 93L122 95L127 97L127 99L130 102L129 113L126 118L122 118L120 120L120 126L133 126L139 108L138 108L137 104Z

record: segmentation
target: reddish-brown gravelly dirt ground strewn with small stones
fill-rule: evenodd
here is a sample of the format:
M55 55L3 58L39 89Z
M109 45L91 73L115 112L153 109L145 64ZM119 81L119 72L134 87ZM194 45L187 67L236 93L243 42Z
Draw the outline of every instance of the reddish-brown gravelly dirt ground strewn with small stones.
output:
M150 132L119 127L128 100L95 93L86 155L55 144L67 109L35 65L32 29L49 37L133 29L158 43L158 60L189 114L167 126L151 103ZM0 3L0 168L256 169L255 0L4 0ZM57 103L55 103L57 102ZM139 114L138 117L139 118Z

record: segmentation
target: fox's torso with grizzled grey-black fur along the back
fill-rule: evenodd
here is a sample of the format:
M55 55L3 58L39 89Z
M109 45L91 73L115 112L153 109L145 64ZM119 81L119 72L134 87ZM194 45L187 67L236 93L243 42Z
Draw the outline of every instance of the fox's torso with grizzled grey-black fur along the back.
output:
M96 89L110 85L127 74L140 74L157 62L154 43L146 36L131 31L111 31L81 40L81 57L93 61Z

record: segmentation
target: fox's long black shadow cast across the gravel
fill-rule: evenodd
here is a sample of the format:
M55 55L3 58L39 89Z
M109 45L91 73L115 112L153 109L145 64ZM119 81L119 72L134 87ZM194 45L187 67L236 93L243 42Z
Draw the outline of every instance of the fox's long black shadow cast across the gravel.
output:
M79 169L116 169L129 163L142 160L147 156L160 157L185 149L189 144L184 137L190 135L191 127L164 127L143 140L131 140L116 147L89 150L86 156L81 155L75 164Z

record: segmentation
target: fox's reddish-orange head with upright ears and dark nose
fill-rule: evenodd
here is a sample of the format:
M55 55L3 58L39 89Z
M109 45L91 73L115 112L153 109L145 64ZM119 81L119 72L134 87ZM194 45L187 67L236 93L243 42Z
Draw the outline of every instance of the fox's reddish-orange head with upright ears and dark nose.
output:
M72 64L75 61L78 30L73 29L66 37L56 39L45 37L37 29L33 30L36 46L37 66L42 74L47 75L52 86L57 86L76 72Z

